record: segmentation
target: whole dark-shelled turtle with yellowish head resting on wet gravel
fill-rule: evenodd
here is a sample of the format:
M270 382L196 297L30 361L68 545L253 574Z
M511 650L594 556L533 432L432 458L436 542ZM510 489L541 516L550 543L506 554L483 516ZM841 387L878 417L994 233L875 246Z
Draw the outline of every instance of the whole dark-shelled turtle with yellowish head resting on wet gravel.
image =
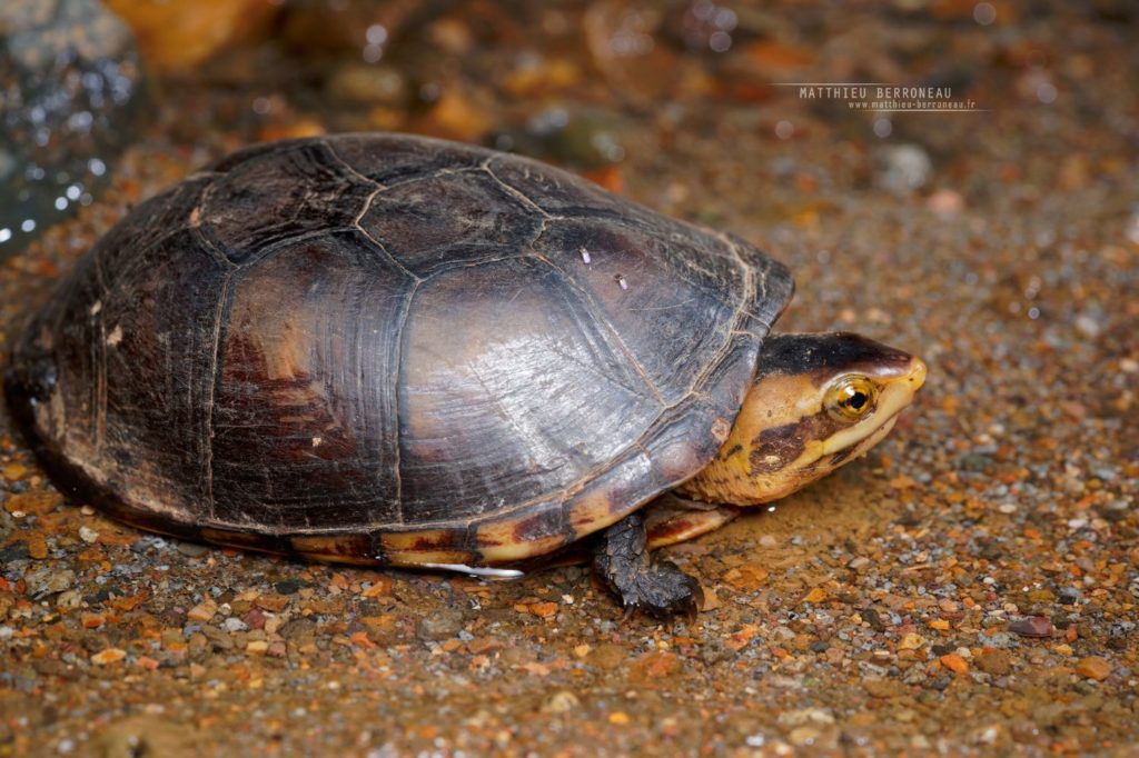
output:
M788 269L542 163L393 133L254 145L142 203L21 332L9 407L66 494L144 529L513 576L649 551L863 454L921 386L769 331Z

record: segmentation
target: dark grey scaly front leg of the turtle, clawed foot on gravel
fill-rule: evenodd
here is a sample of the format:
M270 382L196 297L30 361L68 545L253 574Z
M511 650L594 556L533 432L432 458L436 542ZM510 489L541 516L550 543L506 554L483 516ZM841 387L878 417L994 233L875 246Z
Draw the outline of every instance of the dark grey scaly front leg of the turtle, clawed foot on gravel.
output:
M695 616L704 601L696 579L672 563L649 559L640 512L630 513L601 533L593 568L630 612L642 609L657 618L680 612Z

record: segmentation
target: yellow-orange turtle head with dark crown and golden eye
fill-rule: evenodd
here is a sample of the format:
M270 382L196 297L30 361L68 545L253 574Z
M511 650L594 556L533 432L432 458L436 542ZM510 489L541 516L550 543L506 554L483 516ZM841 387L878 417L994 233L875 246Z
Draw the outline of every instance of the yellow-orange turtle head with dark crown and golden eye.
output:
M885 437L925 374L920 359L859 335L772 335L727 442L683 488L735 505L788 495Z

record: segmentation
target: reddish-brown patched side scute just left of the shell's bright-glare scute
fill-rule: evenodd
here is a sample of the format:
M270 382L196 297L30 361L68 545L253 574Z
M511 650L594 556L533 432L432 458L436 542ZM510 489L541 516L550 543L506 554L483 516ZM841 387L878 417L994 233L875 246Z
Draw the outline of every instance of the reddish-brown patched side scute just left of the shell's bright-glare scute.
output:
M214 380L215 519L399 521L395 377L415 282L359 237L293 242L233 274Z

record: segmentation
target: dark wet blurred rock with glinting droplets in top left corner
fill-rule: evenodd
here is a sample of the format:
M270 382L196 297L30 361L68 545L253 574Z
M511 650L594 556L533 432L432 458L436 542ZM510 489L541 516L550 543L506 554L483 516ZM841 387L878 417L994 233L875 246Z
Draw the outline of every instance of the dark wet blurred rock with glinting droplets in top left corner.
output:
M92 201L141 83L130 30L97 0L0 3L0 257Z

